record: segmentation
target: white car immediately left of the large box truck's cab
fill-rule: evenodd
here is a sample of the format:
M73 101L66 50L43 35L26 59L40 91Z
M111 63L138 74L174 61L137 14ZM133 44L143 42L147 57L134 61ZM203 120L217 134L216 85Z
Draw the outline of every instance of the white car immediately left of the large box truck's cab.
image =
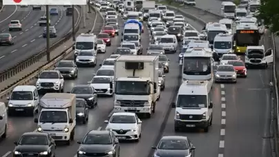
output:
M110 76L94 76L90 85L94 87L98 95L113 96L113 83Z

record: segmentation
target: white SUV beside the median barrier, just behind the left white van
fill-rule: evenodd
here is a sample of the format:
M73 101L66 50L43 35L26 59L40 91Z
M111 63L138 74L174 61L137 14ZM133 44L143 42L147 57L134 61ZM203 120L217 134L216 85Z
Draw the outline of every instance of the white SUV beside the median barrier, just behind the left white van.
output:
M43 70L38 77L36 87L38 92L53 90L63 92L64 78L59 70Z

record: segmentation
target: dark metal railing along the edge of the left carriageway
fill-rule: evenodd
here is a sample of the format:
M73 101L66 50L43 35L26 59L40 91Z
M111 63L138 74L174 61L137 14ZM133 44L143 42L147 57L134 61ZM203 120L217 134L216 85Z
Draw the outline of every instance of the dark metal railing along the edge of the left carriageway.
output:
M81 8L81 6L79 6L79 8ZM77 21L75 23L74 33L76 33L79 30L80 23L81 23L81 15L79 16L79 19L77 19ZM68 41L71 37L72 37L72 32L68 32L68 34L66 34L62 39L60 39L59 41L57 41L56 43L54 43L50 46L50 52L52 50L55 50L56 48L58 48L60 45L62 45L66 41ZM28 59L25 59L25 60L17 63L16 65L13 65L12 67L8 67L8 69L3 70L3 72L0 72L0 83L7 79L10 79L12 76L21 72L25 68L38 62L40 59L42 59L46 55L47 55L47 50L46 50L46 48L44 48L43 50L30 56ZM3 90L3 89L1 89L1 90Z

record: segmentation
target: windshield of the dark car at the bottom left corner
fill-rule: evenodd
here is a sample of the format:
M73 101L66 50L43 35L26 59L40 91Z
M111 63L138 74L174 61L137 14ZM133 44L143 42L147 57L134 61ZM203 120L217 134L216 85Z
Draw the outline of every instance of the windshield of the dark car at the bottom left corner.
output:
M47 136L23 135L19 140L19 145L48 145Z

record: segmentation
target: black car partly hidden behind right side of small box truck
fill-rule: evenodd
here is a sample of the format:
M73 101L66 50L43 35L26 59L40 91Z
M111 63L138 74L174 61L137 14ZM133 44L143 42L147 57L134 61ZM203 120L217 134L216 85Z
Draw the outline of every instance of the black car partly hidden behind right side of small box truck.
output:
M76 121L85 124L88 121L88 105L83 98L76 98Z

